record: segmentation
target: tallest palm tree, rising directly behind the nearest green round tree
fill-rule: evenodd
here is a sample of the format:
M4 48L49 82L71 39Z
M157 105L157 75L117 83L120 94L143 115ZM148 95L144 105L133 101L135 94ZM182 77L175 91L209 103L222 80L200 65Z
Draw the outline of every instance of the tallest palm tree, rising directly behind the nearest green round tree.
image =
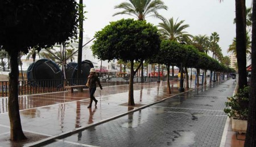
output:
M122 2L115 6L114 9L123 9L123 11L113 14L113 16L126 14L134 16L138 20L145 20L146 17L153 16L163 20L163 16L158 13L158 10L167 10L168 7L161 0L129 0L129 2ZM141 63L141 82L144 82L143 60Z

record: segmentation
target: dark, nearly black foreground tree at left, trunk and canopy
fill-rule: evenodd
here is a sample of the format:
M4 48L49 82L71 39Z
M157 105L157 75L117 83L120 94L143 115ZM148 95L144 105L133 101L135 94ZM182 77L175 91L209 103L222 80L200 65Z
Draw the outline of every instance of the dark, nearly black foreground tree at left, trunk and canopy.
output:
M77 34L75 0L0 1L0 46L10 56L8 112L11 140L26 139L18 103L18 53L63 43Z

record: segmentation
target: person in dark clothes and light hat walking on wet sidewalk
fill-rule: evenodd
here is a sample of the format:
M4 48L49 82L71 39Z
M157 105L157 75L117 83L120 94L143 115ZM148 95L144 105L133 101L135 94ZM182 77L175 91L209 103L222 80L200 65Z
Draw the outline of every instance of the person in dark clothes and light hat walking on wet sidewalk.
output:
M102 90L100 79L98 78L98 75L94 68L90 69L88 80L89 80L88 83L89 83L89 93L90 93L90 104L87 108L91 108L93 100L95 102L95 106L97 105L97 102L98 102L98 100L93 96L97 87L96 82L98 83L98 86L100 86L100 89Z

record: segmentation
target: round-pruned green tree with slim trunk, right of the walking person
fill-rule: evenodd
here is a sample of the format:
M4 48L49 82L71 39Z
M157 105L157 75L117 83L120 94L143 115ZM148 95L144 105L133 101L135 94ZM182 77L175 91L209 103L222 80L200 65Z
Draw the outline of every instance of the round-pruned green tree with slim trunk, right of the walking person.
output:
M134 104L133 78L141 67L134 70L134 61L142 61L157 53L160 48L159 33L155 26L145 21L121 19L110 22L96 32L92 45L94 56L101 60L122 60L131 62L129 82L129 106Z

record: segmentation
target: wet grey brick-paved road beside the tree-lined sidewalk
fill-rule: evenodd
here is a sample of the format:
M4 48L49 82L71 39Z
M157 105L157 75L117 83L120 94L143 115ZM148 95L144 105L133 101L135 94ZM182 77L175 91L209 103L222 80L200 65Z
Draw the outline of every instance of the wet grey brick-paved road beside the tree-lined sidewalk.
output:
M220 146L227 119L223 110L235 86L232 80L203 86L44 146ZM87 111L97 117L99 110Z

